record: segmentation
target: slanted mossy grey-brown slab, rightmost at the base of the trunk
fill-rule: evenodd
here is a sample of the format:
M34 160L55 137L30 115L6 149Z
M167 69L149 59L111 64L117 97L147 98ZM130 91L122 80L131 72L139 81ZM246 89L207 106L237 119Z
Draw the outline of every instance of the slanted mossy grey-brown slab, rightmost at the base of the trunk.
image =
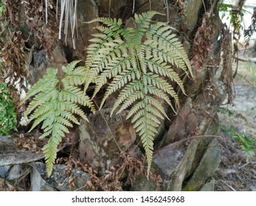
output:
M199 191L204 184L213 176L221 161L221 152L218 141L214 138L209 144L204 157L193 173L193 176L184 187L184 191Z

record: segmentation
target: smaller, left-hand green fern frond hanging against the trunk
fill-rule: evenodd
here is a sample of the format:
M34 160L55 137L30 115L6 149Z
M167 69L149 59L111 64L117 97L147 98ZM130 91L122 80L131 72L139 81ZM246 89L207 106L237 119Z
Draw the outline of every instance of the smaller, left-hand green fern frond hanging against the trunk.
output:
M44 133L40 138L49 136L49 141L43 148L48 176L52 174L58 145L65 133L69 132L68 127L73 127L73 123L79 124L75 115L88 121L80 105L87 106L94 112L94 104L89 96L78 87L84 82L84 68L75 68L78 62L63 66L63 79L58 79L58 69L48 68L47 74L32 86L23 100L25 102L35 96L25 113L26 116L30 115L30 121L34 121L30 131L42 123Z

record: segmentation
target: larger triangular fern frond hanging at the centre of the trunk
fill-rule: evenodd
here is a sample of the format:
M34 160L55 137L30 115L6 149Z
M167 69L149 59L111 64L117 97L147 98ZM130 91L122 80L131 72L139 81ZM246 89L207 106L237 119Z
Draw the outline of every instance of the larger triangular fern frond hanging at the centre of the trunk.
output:
M100 31L91 39L86 57L86 85L96 84L93 97L110 81L100 108L111 93L119 92L111 115L131 107L127 118L131 118L136 132L142 140L148 158L148 174L153 156L153 138L159 127L159 119L167 118L159 99L170 107L172 97L179 104L179 97L169 79L176 82L184 93L179 74L171 67L175 65L191 71L187 57L178 38L171 33L170 26L158 22L151 24L154 11L135 15L134 27L124 28L121 19L96 18Z

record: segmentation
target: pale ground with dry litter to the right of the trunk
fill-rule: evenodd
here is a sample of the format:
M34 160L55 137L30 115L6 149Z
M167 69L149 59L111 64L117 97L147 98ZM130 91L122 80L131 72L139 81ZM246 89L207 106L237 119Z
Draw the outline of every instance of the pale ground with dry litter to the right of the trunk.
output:
M256 54L252 54L255 55ZM241 58L249 59L249 55L242 55ZM235 134L246 135L256 141L256 84L252 76L256 77L256 64L249 77L241 78L242 74L248 72L248 63L239 62L238 74L235 79L234 106L226 105L218 113L221 124L221 163L215 173L215 191L256 191L256 157L249 158L241 143L234 138ZM253 71L253 72L252 72ZM252 148L256 153L256 148Z

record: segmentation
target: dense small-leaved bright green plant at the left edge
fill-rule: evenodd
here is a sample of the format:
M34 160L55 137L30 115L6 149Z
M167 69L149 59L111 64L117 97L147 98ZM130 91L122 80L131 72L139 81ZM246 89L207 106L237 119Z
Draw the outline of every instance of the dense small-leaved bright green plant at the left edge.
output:
M17 114L13 98L5 82L0 84L0 135L10 135L10 130L16 130Z

